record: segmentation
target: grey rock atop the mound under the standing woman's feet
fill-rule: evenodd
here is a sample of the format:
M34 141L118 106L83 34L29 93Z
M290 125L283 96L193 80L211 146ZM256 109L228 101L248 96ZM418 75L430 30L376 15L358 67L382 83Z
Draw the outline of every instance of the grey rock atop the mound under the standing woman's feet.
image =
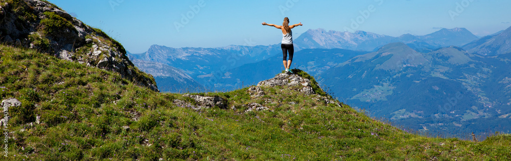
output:
M295 74L281 73L271 79L259 82L257 84L257 86L258 87L259 86L262 86L262 87L275 87L275 86L298 87L298 91L300 91L306 95L315 94L315 92L311 86L311 81L307 78L303 78L303 77L300 77Z

